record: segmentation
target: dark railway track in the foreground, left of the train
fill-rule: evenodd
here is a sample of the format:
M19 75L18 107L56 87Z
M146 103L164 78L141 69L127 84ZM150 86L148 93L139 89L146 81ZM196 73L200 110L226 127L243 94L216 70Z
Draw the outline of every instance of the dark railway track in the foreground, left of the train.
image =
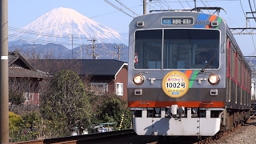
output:
M138 136L133 129L110 131L105 133L84 134L63 138L47 138L26 142L11 142L9 144L143 144L157 141L157 137Z

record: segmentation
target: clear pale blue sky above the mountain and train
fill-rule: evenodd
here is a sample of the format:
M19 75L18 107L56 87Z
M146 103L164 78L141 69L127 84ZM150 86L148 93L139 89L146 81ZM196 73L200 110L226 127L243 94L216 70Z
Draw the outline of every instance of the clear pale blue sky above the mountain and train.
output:
M102 23L119 33L128 33L129 24L133 17L143 14L142 0L107 0L122 9L126 14L114 8L105 0L8 0L8 26L22 29L22 27L34 22L37 18L50 10L58 7L70 8L78 13ZM120 3L124 4L122 6ZM146 13L149 10L172 10L191 9L194 7L194 0L147 0ZM232 28L246 27L246 12L250 12L250 4L253 11L256 11L254 0L197 0L197 6L219 6L226 10L221 11L220 17L224 18L227 25ZM129 8L129 10L126 9ZM134 13L130 12L132 10ZM206 11L208 13L208 11ZM214 11L210 10L210 13ZM127 15L129 14L129 15ZM252 17L248 15L247 17ZM255 13L256 17L256 13ZM256 27L254 19L250 19L248 27ZM256 30L255 30L256 33ZM242 53L246 56L255 55L256 34L234 35Z

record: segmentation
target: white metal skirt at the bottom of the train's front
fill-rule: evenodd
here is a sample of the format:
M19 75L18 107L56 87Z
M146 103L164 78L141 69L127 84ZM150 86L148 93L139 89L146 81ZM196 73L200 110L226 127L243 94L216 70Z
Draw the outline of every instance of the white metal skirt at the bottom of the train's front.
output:
M159 118L148 118L148 110L144 108L141 118L133 115L134 131L138 135L158 136L214 136L218 133L221 114L218 118L210 118L210 111L213 110L211 108L206 110L204 118L193 118L191 110L191 108L187 109L186 118L166 118L166 108L161 108Z

